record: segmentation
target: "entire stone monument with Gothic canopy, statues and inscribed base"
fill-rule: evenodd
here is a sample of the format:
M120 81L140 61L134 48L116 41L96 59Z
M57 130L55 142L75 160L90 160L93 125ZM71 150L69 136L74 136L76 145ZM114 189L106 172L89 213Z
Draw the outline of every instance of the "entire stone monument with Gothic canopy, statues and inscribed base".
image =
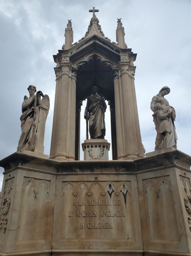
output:
M5 169L0 256L190 256L191 157L161 143L172 134L175 112L163 97L170 89L162 88L151 103L160 137L156 146L163 151L144 157L134 87L136 54L125 44L121 19L115 43L105 37L98 10L90 12L87 32L74 44L68 20L65 45L53 56L57 67L50 158L34 154L37 144L29 145L23 127L18 152L0 161ZM99 92L91 92L92 86ZM38 102L39 125L43 95L39 92L33 99L36 89L30 88L23 114ZM86 147L89 153L84 145L86 161L79 161L80 110L86 98L91 145ZM110 105L113 160L106 160L107 154L101 159L93 150L95 145L109 150L104 141L105 100ZM99 120L97 126L91 117ZM35 112L30 125L34 119ZM164 125L169 128L165 133ZM165 140L167 145L170 139Z

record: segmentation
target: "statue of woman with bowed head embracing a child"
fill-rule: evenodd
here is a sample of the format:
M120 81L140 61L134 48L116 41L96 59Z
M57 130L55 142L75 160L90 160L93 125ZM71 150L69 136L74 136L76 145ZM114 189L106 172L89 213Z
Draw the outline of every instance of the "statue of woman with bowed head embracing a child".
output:
M164 98L168 93L170 93L170 88L164 86L151 101L151 110L154 112L153 122L157 131L155 150L167 147L176 148L177 135L174 125L176 113Z

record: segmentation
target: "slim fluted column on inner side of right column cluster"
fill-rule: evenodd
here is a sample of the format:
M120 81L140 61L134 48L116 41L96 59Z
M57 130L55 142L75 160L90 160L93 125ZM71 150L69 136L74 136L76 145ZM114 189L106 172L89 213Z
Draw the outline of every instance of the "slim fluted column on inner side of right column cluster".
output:
M115 121L116 121L116 136L117 136L117 159L123 160L125 157L124 152L124 133L122 125L122 109L121 109L121 92L118 69L113 68L113 82L115 91Z

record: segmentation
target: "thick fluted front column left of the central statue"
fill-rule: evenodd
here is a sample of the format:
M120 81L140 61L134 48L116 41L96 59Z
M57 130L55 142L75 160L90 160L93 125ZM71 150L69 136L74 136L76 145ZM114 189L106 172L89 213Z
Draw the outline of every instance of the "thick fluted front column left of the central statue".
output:
M68 160L67 136L68 136L68 105L69 105L69 88L70 79L70 63L60 63L61 66L61 83L58 93L58 122L55 127L55 160Z

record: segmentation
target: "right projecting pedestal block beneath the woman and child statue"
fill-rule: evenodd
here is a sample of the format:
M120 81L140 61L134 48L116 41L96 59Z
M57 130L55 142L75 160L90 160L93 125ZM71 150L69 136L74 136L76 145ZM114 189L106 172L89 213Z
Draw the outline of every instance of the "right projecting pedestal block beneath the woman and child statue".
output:
M134 161L146 256L191 255L191 157L172 149Z

